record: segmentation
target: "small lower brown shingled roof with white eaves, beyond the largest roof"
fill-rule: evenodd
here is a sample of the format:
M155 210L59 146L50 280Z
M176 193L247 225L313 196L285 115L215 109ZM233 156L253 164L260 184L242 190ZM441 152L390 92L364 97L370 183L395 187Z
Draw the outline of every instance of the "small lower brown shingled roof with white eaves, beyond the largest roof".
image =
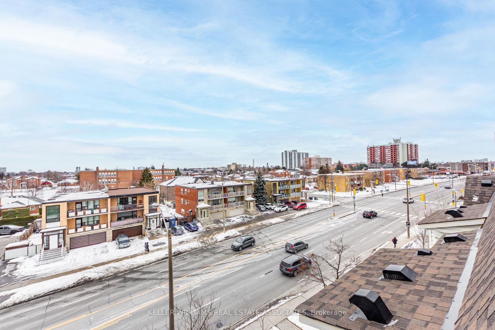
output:
M474 220L485 219L488 217L492 203L469 205L466 207L451 208L448 210L437 210L425 218L423 218L418 224L434 224L440 222L461 221L461 220ZM459 210L459 213L449 212ZM460 215L460 216L459 216Z

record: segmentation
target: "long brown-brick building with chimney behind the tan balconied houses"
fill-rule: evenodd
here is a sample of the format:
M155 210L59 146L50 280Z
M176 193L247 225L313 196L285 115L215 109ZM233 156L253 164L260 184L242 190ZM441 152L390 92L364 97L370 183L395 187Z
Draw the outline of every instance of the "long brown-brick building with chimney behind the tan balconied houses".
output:
M174 169L166 169L163 165L161 169L149 169L153 180L156 185L161 184L164 181L171 180L175 178ZM141 177L143 175L143 170L124 170L124 169L114 169L114 170L100 170L97 166L96 170L80 171L79 181L93 183L97 188L108 187L110 189L119 188L129 188L132 186L137 186Z

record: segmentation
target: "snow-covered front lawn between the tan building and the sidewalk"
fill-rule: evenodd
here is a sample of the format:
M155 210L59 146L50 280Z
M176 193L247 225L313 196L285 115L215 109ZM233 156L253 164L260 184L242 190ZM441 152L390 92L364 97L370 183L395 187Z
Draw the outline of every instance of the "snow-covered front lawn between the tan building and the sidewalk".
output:
M197 232L190 233L185 230L183 235L172 236L172 243L173 245L176 245L185 241L194 240L197 237ZM131 246L121 249L117 248L117 244L115 244L115 241L72 249L67 252L64 260L52 262L45 265L38 265L38 259L40 257L39 254L29 257L19 257L11 259L8 261L8 263L18 264L15 268L15 271L11 272L11 274L9 275L15 277L34 275L36 275L37 277L45 277L83 267L89 267L97 263L108 262L119 258L130 257L138 253L143 253L145 251L145 242L149 243L150 251L164 247L166 246L167 237L163 236L153 240L148 240L148 237L146 236L138 236L131 237L130 240Z

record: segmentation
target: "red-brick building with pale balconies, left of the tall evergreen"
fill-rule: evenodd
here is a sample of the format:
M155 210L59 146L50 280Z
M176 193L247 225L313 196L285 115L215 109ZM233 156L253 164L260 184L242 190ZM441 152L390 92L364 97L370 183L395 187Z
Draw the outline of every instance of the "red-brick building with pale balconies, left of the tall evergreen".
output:
M252 184L224 181L175 186L175 212L204 224L241 214L255 214Z

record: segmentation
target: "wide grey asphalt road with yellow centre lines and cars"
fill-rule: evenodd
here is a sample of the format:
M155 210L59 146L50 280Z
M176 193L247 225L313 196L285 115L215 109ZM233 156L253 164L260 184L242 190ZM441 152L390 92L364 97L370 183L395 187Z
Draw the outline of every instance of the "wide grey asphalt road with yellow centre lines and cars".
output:
M460 190L464 180L455 179ZM428 207L449 201L450 190L433 185L411 190L413 197L427 193ZM220 304L214 322L236 323L255 310L289 291L297 291L305 281L288 277L278 267L289 255L285 242L299 238L309 243L307 250L324 252L322 243L344 236L356 253L371 251L404 231L405 191L356 199L356 213L332 218L326 209L251 233L256 245L242 252L230 249L232 240L190 251L174 258L174 299L179 305L196 291L214 304ZM411 204L411 214L423 212L419 202ZM353 211L352 200L336 207L337 216ZM439 206L440 207L440 206ZM362 218L358 213L375 209L379 216ZM416 211L414 211L416 209ZM382 212L384 211L384 212ZM387 213L387 214L386 214ZM399 242L398 245L400 246ZM6 308L1 313L3 329L164 329L168 316L167 261L89 283L50 296ZM194 310L195 308L193 308ZM180 320L176 321L177 323Z

